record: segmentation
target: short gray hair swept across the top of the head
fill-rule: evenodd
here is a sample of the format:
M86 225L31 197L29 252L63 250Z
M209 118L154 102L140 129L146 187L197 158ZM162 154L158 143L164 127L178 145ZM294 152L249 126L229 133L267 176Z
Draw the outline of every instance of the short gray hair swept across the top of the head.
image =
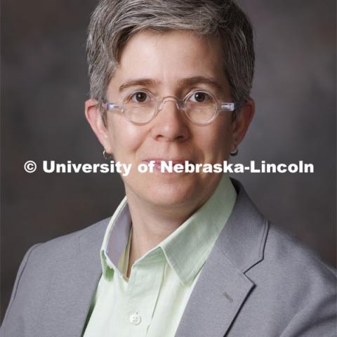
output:
M254 70L253 29L233 0L101 0L91 15L86 55L90 95L99 102L133 34L186 29L219 38L234 101L249 98Z

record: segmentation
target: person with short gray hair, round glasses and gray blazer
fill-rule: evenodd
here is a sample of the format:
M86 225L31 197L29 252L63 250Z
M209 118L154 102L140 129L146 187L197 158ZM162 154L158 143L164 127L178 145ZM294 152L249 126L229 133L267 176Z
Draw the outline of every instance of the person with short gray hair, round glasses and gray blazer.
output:
M335 336L333 268L226 173L161 170L237 154L254 114L239 6L102 0L87 57L86 119L104 156L131 165L126 197L29 249L1 336Z

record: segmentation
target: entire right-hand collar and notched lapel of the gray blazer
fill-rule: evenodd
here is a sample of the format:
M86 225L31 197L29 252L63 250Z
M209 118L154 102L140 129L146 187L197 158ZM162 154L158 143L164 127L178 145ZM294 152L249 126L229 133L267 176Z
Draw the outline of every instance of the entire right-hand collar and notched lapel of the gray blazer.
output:
M253 289L245 272L263 260L268 225L236 180L237 202L206 260L176 337L223 337Z

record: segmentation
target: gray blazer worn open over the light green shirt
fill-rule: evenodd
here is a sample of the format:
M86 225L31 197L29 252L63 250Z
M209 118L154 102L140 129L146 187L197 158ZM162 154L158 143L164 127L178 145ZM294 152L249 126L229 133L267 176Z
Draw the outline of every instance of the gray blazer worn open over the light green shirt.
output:
M260 214L242 185L178 326L179 337L333 337L336 272ZM3 337L81 336L109 219L33 246Z

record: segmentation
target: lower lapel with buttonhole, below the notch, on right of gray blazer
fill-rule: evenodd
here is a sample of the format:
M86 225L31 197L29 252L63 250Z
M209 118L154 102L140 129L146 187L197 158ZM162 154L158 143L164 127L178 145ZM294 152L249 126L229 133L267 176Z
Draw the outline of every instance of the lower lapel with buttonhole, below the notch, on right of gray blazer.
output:
M216 271L216 272L215 272ZM177 337L223 337L253 283L213 249L194 287Z

